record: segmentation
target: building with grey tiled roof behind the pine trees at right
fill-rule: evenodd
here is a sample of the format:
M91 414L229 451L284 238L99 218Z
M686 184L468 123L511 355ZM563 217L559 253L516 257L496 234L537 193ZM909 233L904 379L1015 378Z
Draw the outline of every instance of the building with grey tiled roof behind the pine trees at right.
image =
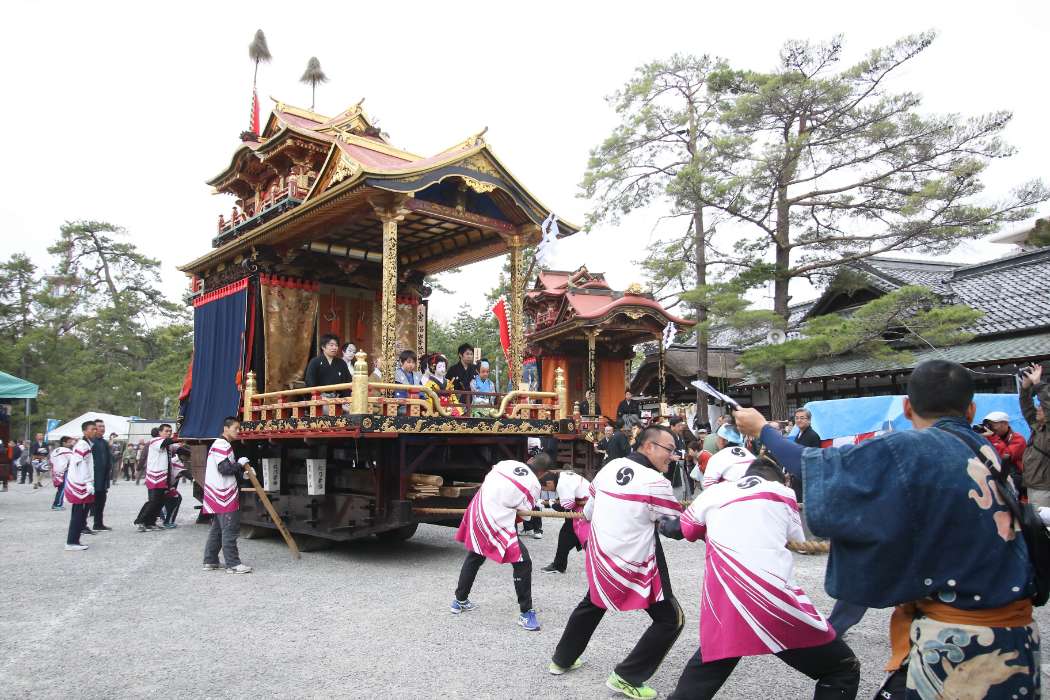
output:
M1013 375L1020 365L1050 359L1050 249L1025 251L975 264L872 257L850 264L849 271L859 283L854 281L848 291L833 284L815 301L793 306L790 333L797 333L810 318L848 314L908 284L928 287L945 302L966 304L984 316L968 328L974 334L970 342L946 348L917 348L907 361L844 356L791 366L788 368L790 407L822 398L901 394L910 369L932 358L961 362L980 373L976 378L981 391L1012 393ZM718 339L719 346L733 346L737 353L764 342L764 338L741 338L731 331L716 332L712 338ZM681 346L681 352L684 356L695 357L695 344ZM669 370L671 367L669 361ZM691 365L677 367L677 372L684 379L694 377L695 360ZM743 377L728 388L743 402L757 407L769 405L768 385L762 377ZM691 399L691 390L680 397L680 400Z

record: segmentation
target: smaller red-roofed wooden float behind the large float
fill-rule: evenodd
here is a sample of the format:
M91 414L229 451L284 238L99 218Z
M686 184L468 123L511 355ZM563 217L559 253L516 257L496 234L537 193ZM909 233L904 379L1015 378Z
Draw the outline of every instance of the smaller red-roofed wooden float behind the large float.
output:
M668 323L679 328L694 324L664 309L637 283L617 292L604 274L586 267L540 271L525 294L525 319L526 354L537 358L541 387L552 387L555 370L562 368L569 402L582 402L593 390L601 415L610 419L624 399L634 346L653 340L663 346Z

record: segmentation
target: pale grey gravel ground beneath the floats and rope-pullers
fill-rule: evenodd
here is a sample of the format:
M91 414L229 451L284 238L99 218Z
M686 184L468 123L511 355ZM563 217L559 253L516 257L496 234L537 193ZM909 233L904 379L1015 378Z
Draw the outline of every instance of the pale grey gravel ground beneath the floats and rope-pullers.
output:
M201 571L205 526L184 489L176 530L130 526L144 486L110 490L112 532L64 552L68 510L48 509L51 488L0 493L4 698L613 698L612 666L646 628L642 612L610 614L585 665L552 677L546 664L586 587L582 557L565 575L539 571L553 556L558 521L528 539L543 630L516 624L510 567L486 564L471 594L479 609L448 613L463 559L453 530L421 527L400 547L364 540L295 561L280 539L240 540L248 576ZM686 629L650 684L669 694L697 643L699 544L665 540ZM825 557L796 555L796 575L817 607ZM1038 611L1046 623L1047 613ZM888 611L870 611L847 641L863 664L861 698L881 681ZM812 697L812 683L774 657L744 659L720 698Z

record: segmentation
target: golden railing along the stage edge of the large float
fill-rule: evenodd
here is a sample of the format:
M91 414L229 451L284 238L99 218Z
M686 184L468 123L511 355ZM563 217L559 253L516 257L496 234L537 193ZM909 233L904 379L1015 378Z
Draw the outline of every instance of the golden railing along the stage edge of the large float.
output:
M344 384L256 394L255 373L249 372L245 382L245 403L242 411L244 420L298 419L321 415L424 417L447 417L450 415L448 408L441 405L441 397L430 387L371 381L368 356L363 352L359 352L354 357L354 381ZM323 396L326 394L341 396L326 397ZM393 394L406 396L390 396ZM299 399L299 397L304 398ZM547 402L548 400L550 403ZM469 406L470 402L465 402L465 407L469 408ZM503 396L497 416L542 420L571 418L565 375L562 368L559 367L555 370L553 391L510 391Z

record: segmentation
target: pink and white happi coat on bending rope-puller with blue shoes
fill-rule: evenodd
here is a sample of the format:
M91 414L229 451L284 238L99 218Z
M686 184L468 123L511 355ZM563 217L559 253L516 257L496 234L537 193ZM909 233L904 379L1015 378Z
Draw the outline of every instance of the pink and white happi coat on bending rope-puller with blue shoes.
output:
M518 510L532 510L540 497L540 481L528 465L498 462L463 514L456 539L497 564L522 560L518 542Z

